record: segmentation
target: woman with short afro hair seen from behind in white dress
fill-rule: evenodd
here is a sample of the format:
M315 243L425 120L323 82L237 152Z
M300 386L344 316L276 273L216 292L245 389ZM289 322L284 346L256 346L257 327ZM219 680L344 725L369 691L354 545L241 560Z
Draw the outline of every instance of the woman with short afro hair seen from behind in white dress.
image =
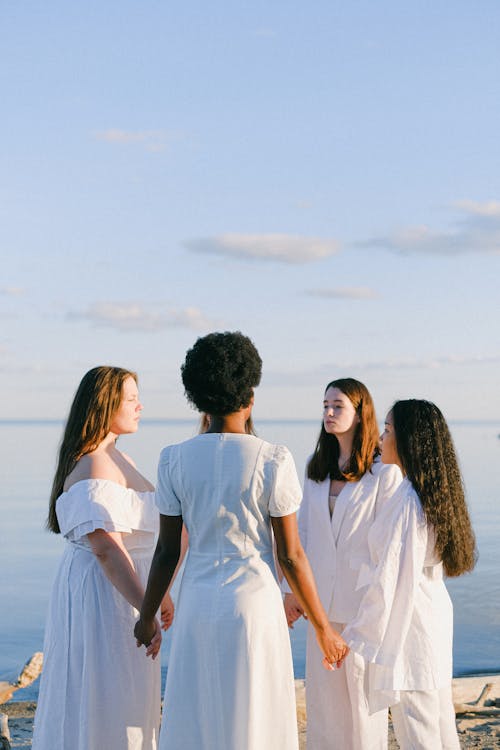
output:
M316 630L326 669L347 653L328 622L296 511L301 489L287 448L248 433L262 362L241 333L198 339L181 368L207 431L162 451L160 536L136 625L149 644L154 615L189 534L168 665L162 750L297 750L290 639L278 559ZM149 649L148 649L149 650Z

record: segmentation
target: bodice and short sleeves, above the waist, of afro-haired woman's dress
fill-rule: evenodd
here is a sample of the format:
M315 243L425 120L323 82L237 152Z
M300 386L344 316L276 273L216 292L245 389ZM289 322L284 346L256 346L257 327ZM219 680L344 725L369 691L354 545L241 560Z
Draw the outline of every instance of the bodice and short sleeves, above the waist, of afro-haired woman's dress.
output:
M283 446L206 433L165 448L157 496L162 513L183 516L190 555L249 557L271 553L270 515L290 513L292 498L296 509L297 486Z

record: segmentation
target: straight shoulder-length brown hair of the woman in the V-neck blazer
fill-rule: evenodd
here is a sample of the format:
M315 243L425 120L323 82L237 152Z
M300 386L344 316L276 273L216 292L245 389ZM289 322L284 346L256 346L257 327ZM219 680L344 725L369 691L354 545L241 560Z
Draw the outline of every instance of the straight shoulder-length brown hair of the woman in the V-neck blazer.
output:
M363 474L371 469L378 448L378 424L375 416L375 406L368 388L354 378L339 378L332 380L325 388L338 388L347 396L356 409L359 424L354 433L351 458L345 471L339 469L340 445L335 435L330 435L321 423L318 442L307 465L307 476L315 482L322 482L328 476L330 479L340 479L347 482L357 482Z

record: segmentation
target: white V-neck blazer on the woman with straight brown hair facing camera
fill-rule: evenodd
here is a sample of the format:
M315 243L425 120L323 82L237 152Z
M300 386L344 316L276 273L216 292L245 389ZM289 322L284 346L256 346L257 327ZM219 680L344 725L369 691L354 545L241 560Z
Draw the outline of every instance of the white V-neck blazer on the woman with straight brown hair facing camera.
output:
M369 564L368 531L386 500L402 481L397 466L377 460L359 482L347 482L330 519L330 479L304 480L299 533L314 573L321 602L331 622L347 623L357 614L362 591L359 570ZM289 592L287 584L283 590Z

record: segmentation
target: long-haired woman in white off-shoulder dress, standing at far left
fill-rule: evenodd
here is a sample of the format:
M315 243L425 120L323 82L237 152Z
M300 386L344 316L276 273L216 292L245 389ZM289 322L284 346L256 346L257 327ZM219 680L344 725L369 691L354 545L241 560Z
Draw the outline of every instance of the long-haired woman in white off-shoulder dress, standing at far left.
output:
M152 485L116 448L135 432L136 376L97 367L83 378L62 440L48 526L66 539L47 618L33 750L155 750L160 664L130 635L151 563ZM164 626L173 615L167 596ZM160 645L155 625L151 653Z

